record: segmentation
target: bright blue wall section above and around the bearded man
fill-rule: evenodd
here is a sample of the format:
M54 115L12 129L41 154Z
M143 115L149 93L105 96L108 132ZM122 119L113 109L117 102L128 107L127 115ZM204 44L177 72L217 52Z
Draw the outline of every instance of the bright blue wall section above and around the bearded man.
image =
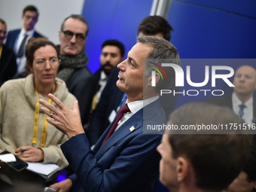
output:
M90 31L86 53L91 72L99 69L101 44L107 39L117 39L125 45L126 53L136 44L137 26L148 17L152 0L85 0L82 15Z

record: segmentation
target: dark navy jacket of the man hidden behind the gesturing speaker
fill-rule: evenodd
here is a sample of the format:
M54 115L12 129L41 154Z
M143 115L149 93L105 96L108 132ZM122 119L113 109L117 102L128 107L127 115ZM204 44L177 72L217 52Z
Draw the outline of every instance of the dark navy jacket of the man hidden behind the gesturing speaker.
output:
M102 136L102 133L110 123L108 117L111 114L111 111L116 111L120 102L122 102L123 91L121 91L116 85L118 73L119 69L117 69L117 67L113 69L108 78L108 83L102 91L99 102L93 111L90 120L89 133L87 133L91 145L94 145L98 141L99 137ZM179 88L174 85L175 83L173 83L169 89L172 90L172 92L173 90L178 92ZM163 96L160 96L160 102L166 112L167 118L169 118L169 114L174 111L177 99L178 94L175 94L175 96L172 94L164 94Z

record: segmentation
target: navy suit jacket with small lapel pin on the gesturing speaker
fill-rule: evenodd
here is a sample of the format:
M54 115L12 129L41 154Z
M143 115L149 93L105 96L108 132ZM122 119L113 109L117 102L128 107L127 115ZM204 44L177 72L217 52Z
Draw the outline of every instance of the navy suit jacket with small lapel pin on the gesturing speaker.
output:
M85 134L65 142L61 148L75 172L72 181L77 177L73 191L153 191L160 161L156 148L162 136L143 133L143 126L163 123L166 123L166 114L157 99L126 120L102 148L111 125L93 151Z

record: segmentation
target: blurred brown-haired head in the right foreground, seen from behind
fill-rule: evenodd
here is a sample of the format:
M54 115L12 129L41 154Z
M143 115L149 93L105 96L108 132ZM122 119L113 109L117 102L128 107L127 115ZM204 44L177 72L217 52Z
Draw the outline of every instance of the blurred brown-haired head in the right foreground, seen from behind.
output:
M160 181L172 192L221 191L228 187L242 171L248 159L252 136L233 130L228 134L209 134L200 130L188 134L184 125L218 125L244 121L230 108L206 102L191 102L170 115L169 125L162 143L157 147L161 155ZM241 192L241 190L239 191Z

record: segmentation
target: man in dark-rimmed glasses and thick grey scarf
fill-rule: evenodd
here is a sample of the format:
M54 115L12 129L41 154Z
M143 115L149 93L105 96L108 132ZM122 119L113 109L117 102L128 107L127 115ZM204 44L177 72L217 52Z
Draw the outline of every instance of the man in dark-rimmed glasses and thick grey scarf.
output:
M93 76L87 69L88 58L85 52L89 26L87 20L78 14L67 17L59 31L59 50L61 59L57 77L66 82L69 92L79 102L81 121L87 123L93 99Z

